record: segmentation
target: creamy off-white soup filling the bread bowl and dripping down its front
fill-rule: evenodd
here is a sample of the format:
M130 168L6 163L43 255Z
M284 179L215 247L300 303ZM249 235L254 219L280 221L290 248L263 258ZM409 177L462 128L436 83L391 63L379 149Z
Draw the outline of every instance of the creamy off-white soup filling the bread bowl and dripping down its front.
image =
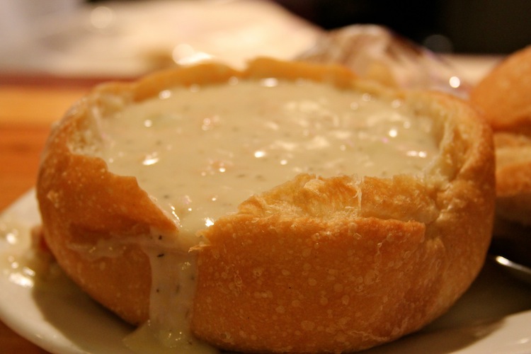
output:
M136 176L188 245L246 198L298 173L422 176L438 154L433 121L401 101L312 81L181 87L94 118L103 137L96 155L111 172ZM151 319L127 338L131 348L205 350L188 325L195 258L181 251L160 258L147 248ZM176 287L186 291L176 296ZM155 350L154 342L163 346Z

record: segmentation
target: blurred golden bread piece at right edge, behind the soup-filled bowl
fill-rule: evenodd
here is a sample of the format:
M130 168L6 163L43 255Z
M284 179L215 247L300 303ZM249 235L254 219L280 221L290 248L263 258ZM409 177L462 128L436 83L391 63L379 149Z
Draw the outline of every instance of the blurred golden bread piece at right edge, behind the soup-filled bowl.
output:
M503 59L472 88L470 101L494 130L496 214L531 225L531 46Z

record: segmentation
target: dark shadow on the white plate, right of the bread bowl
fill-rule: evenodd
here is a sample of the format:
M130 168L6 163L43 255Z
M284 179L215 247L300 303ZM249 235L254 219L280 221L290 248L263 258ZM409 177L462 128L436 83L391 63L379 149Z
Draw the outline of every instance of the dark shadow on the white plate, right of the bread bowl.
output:
M446 314L417 333L362 353L469 353L466 349L474 343L503 329L507 316L530 309L531 287L487 261L476 281ZM473 352L482 353L480 349Z

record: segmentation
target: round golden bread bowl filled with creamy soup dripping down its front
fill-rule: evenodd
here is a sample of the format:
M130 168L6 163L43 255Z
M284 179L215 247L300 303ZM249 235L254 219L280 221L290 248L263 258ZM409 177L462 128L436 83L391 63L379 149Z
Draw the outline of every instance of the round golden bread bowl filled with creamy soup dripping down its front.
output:
M491 239L493 142L444 94L198 64L96 87L52 130L37 192L59 265L142 325L130 346L338 353L417 331L467 290Z

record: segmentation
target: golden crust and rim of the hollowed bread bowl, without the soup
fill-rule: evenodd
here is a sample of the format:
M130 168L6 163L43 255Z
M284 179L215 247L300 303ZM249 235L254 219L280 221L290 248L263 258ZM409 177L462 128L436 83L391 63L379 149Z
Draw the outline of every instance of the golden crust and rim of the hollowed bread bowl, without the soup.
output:
M204 64L100 86L67 113L47 142L37 185L44 236L66 273L126 321L149 318L151 274L141 245L153 229L178 229L135 178L76 152L98 144L86 116L102 95L142 101L231 76L305 77L400 98L437 122L440 156L426 179L301 174L242 201L204 230L209 244L194 249L195 336L228 350L352 351L445 312L479 273L491 238L488 125L457 98L389 91L341 67L270 59L245 72Z

